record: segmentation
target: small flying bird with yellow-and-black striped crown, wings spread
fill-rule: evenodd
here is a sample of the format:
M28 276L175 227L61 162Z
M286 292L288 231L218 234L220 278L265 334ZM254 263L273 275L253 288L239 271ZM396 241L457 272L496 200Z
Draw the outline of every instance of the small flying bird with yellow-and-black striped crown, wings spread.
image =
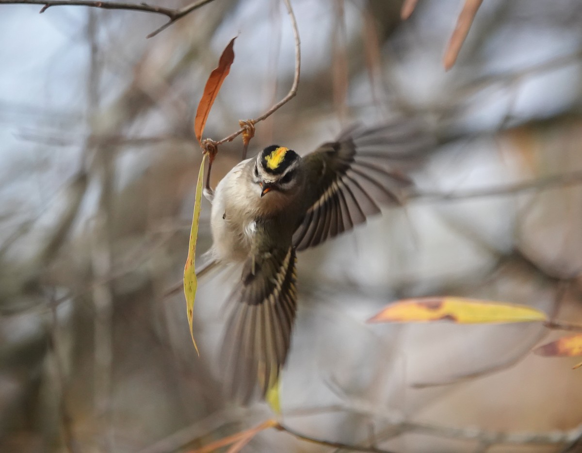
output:
M352 126L303 157L265 147L207 194L212 246L198 277L242 264L221 348L231 398L265 398L278 382L297 312L297 252L363 224L381 206L402 204L413 187L407 169L431 144L414 122Z

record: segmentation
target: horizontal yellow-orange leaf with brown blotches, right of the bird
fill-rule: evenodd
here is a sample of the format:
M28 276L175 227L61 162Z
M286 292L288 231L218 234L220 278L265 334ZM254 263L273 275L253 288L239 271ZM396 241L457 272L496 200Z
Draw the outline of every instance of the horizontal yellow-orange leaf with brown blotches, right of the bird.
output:
M449 320L461 324L545 321L546 314L525 305L456 297L403 299L376 314L369 323Z

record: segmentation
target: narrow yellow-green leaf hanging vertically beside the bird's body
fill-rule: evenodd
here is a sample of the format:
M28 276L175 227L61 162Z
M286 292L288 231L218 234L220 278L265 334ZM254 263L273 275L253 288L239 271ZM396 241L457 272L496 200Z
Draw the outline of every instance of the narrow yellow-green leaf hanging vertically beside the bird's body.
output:
M194 348L198 355L198 346L194 340L193 321L194 321L194 299L196 298L196 288L198 281L196 279L196 270L194 269L194 259L196 258L196 239L198 238L198 224L200 223L200 204L202 202L202 182L204 179L204 162L206 154L200 162L200 171L198 172L198 182L196 183L196 197L194 197L194 214L192 215L192 227L190 228L190 242L188 245L188 257L184 265L184 295L186 296L186 313L188 315L188 325L190 326L190 337L194 343Z

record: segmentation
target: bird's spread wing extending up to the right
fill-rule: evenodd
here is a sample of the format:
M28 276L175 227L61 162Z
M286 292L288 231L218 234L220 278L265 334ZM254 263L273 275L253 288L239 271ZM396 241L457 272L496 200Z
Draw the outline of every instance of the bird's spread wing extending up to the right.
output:
M303 159L307 211L293 235L297 250L313 247L365 222L380 206L402 204L412 185L404 174L431 148L432 139L410 122L352 128Z

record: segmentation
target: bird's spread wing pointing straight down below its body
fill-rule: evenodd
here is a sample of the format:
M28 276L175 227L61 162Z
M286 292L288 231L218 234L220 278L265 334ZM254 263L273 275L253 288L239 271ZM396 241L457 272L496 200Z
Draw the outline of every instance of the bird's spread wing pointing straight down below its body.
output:
M262 397L287 358L297 307L294 247L251 256L231 298L222 346L229 394L242 402Z

